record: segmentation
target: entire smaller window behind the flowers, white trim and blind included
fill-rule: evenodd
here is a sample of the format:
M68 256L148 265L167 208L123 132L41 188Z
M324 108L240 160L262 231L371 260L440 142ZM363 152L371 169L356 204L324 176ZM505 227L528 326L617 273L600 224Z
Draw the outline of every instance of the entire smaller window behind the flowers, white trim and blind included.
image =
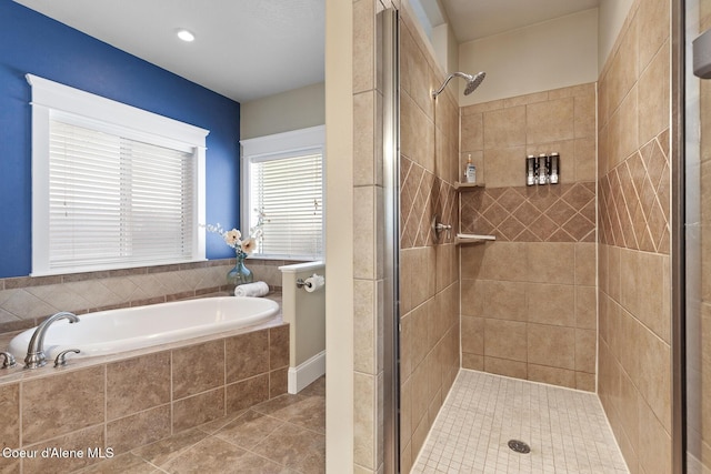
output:
M323 258L323 127L241 142L242 229L261 229L254 255Z

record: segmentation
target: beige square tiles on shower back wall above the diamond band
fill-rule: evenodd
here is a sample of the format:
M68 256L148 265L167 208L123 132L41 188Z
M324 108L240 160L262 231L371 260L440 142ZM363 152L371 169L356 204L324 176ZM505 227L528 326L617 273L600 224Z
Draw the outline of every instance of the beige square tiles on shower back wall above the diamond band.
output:
M525 157L558 152L561 183L595 180L595 84L464 107L461 161L487 188L525 185ZM463 168L462 168L463 169Z

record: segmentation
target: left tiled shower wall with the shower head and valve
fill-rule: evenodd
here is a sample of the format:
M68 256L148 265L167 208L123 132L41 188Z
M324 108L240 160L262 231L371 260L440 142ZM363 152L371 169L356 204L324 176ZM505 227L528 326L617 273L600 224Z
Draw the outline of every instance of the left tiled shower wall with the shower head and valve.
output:
M458 107L407 11L400 28L400 452L410 472L459 360L459 250L432 219L458 228Z

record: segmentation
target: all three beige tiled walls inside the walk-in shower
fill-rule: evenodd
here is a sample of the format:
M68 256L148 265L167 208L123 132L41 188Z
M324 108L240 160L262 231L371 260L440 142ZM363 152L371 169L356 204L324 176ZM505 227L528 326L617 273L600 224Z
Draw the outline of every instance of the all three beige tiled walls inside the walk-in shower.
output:
M671 471L670 10L634 1L598 82L463 108L400 10L403 472L458 362L597 392L630 470ZM560 184L527 186L551 152ZM435 242L435 215L497 240Z

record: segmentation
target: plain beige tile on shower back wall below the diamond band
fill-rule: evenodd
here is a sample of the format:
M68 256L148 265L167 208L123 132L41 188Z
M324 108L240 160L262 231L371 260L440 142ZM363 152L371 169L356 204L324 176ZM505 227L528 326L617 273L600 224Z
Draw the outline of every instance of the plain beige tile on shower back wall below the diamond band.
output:
M595 390L595 244L461 250L462 366Z

